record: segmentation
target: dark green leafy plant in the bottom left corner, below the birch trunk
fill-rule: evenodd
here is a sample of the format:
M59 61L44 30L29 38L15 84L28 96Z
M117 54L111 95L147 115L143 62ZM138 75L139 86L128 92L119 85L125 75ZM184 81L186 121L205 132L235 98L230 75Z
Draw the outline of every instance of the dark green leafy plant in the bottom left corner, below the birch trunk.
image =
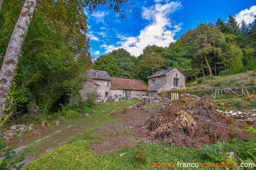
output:
M10 167L21 169L22 166L24 166L24 163L20 164L18 167L14 164L22 162L24 160L24 155L22 154L15 159L16 153L15 151L12 151L15 148L15 145L7 147L7 142L3 137L4 135L2 134L0 139L0 157L2 158L0 160L0 169L10 169Z

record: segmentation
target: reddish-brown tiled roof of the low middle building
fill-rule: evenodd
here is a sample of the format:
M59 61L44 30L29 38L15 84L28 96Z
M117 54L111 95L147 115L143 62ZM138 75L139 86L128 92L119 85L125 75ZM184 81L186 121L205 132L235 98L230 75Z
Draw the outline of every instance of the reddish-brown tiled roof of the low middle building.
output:
M148 90L148 85L143 80L111 77L111 89Z

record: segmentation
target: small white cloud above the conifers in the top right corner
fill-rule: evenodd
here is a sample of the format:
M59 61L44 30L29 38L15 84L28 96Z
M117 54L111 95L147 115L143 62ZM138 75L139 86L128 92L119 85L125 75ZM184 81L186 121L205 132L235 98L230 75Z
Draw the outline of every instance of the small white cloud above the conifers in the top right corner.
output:
M236 20L237 20L237 24L241 24L241 22L244 20L244 22L246 22L246 24L250 24L253 22L254 15L256 15L256 6L251 6L251 8L245 9L245 10L241 10L239 13L236 14Z

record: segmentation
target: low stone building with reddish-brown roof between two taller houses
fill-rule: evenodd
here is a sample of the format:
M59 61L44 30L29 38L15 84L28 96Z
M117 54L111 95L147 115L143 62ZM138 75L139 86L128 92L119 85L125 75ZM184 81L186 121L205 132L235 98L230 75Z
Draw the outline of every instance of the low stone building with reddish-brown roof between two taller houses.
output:
M125 99L147 96L148 85L143 80L111 77L111 96Z

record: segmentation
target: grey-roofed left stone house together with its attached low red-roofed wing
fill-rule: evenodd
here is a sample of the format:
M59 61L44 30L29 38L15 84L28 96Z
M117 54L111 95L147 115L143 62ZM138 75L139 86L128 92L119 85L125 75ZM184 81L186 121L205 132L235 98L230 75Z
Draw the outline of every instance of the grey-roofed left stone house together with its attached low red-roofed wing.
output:
M143 80L110 77L106 71L95 69L89 69L83 76L86 81L83 83L83 89L79 90L83 101L86 100L88 92L97 92L97 100L100 101L114 97L132 99L147 96L148 85Z

